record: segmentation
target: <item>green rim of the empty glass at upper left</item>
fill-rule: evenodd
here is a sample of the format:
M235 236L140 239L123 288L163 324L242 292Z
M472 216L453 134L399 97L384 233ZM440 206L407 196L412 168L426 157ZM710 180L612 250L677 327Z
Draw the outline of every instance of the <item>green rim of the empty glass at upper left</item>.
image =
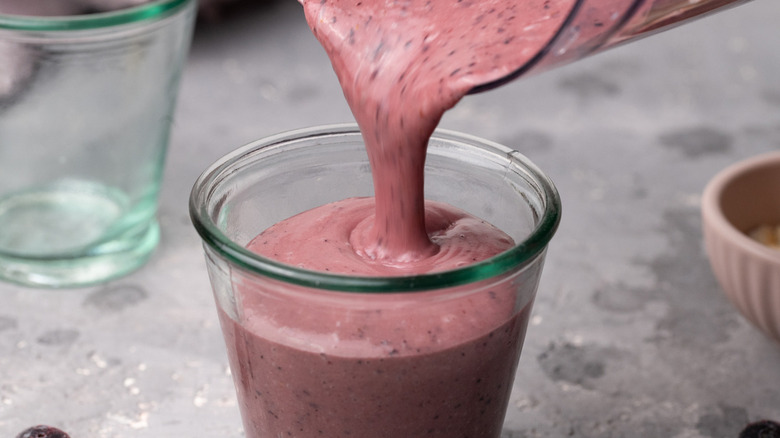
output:
M30 32L96 30L167 17L196 0L157 0L114 11L80 15L33 16L0 13L0 30Z

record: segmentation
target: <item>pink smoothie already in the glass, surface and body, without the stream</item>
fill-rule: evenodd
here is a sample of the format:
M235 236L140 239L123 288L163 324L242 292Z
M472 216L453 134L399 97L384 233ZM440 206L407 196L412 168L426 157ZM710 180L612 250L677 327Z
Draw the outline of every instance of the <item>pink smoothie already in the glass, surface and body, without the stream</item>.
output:
M435 254L379 261L363 248L374 198L305 211L248 245L299 267L359 276L435 272L513 245L492 225L426 203ZM418 294L312 291L233 274L220 313L245 430L260 437L496 437L536 287L492 278ZM236 322L236 320L240 322Z

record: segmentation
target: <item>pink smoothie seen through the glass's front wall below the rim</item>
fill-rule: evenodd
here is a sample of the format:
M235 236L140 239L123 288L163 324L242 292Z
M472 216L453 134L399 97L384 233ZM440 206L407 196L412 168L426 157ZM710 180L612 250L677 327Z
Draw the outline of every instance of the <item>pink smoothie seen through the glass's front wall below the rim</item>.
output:
M497 438L533 295L493 286L243 294L220 320L246 436Z

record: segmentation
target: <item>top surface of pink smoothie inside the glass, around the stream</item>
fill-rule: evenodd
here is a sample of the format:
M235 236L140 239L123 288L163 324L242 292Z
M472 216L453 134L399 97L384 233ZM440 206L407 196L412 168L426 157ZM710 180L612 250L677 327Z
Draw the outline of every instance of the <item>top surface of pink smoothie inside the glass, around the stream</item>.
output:
M499 254L514 244L493 225L453 206L426 202L425 233L431 253L414 260L374 258L374 198L351 198L279 222L247 247L300 268L358 276L398 276L456 269Z

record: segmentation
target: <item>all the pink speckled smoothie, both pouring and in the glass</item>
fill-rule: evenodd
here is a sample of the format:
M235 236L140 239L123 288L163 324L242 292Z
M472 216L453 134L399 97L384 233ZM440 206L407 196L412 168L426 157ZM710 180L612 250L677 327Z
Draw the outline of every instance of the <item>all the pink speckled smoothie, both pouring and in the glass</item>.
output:
M375 196L300 213L248 248L359 276L455 269L511 248L489 223L424 199L426 147L447 109L534 56L571 3L304 0L360 126ZM498 437L531 306L517 297L533 295L518 287L536 285L321 302L282 284L243 291L238 321L220 316L247 437Z

